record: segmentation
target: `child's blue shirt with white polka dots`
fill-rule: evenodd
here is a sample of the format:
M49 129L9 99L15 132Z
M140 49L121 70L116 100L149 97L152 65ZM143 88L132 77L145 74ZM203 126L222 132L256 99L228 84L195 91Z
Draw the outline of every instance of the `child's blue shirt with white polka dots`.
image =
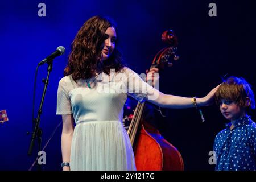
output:
M256 171L256 123L246 116L217 134L213 150L217 171Z

